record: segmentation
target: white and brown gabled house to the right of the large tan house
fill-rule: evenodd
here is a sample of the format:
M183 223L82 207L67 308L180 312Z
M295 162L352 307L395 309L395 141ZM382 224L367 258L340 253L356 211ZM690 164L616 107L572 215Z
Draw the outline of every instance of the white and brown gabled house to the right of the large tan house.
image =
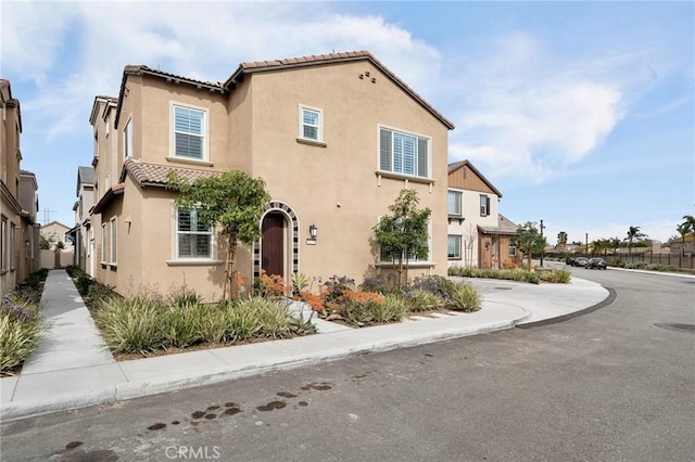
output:
M448 266L504 268L519 261L517 226L500 214L500 198L470 162L448 165Z

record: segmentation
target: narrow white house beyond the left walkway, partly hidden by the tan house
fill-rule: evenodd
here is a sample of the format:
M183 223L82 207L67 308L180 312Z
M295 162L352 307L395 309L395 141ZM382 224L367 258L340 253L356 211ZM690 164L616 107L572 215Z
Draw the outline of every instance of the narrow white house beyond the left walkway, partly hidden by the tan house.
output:
M96 265L92 258L93 232L91 227L90 210L94 205L94 168L77 167L77 188L75 190L77 201L73 206L75 211L75 226L68 231L67 239L75 247L73 265L81 268L89 275L94 275Z

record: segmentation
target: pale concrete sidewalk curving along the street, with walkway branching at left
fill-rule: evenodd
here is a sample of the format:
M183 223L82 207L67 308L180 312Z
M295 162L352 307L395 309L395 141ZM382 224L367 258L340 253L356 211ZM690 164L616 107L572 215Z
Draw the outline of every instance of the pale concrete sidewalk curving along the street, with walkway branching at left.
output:
M609 295L599 284L578 278L563 285L478 279L466 282L483 297L480 311L415 316L402 323L366 329L314 318L316 335L117 362L67 273L54 270L49 273L41 298L48 332L21 375L0 378L0 418L76 409L509 329L584 310ZM292 309L303 308L294 304Z

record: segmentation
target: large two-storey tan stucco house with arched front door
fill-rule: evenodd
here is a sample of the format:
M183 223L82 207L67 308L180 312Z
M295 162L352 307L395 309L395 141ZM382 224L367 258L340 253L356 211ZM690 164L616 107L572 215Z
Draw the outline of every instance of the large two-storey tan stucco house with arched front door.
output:
M177 208L172 171L266 182L263 238L235 260L247 291L262 271L288 282L390 271L372 228L404 188L432 210L429 258L409 274L446 274L454 126L369 52L242 63L225 82L126 66L118 98L97 97L90 123L96 277L122 294L186 284L220 295L224 243Z

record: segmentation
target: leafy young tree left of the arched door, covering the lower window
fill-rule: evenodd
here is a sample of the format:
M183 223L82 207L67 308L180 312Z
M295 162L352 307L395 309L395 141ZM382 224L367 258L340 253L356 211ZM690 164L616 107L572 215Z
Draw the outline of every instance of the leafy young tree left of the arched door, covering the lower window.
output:
M261 217L270 195L261 178L251 178L239 170L226 171L193 182L169 174L167 188L179 192L179 207L195 208L198 218L208 227L218 226L227 241L227 260L223 300L236 296L236 269L233 266L237 244L250 245L261 238Z

